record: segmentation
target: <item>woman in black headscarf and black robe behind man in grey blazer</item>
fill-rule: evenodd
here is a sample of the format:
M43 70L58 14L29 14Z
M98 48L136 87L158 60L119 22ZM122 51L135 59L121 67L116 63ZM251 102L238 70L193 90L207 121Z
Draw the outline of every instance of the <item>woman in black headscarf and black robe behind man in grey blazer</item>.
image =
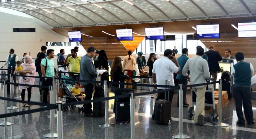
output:
M104 81L104 80L109 81L109 62L108 62L108 57L105 50L99 51L99 70L107 70L107 72L104 72L101 75L100 81Z

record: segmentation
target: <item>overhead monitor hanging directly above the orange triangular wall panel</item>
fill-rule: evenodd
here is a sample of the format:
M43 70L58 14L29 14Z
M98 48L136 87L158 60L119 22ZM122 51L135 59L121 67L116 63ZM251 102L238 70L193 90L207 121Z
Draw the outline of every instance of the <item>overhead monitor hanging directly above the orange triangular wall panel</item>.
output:
M133 40L133 29L117 29L117 40Z

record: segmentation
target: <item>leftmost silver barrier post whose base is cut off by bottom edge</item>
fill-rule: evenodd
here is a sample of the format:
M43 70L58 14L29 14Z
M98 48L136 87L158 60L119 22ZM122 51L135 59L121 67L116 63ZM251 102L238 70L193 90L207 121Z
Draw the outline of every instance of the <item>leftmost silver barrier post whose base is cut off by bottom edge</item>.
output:
M63 117L62 117L62 101L57 101L57 131L58 139L63 139Z

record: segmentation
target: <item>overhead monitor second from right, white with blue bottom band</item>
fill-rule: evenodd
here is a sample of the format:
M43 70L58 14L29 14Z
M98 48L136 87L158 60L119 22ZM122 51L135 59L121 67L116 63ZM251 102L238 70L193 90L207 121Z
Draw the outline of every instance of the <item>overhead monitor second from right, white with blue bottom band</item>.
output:
M197 38L219 38L219 24L215 25L196 25Z

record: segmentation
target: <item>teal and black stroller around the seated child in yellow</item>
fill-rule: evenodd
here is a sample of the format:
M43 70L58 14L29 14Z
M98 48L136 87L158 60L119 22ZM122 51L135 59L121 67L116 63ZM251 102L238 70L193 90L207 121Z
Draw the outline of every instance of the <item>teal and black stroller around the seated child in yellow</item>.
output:
M61 75L61 78L70 79L66 75ZM64 93L63 97L66 99L66 102L76 102L76 101L78 102L78 101L82 100L81 98L74 97L72 92L71 92L71 90L73 88L74 81L72 81L72 80L61 80L60 84L62 86L63 93ZM69 106L69 108L71 110L73 110L73 109L76 108L76 105ZM63 107L63 111L67 111L67 110L68 110L67 106ZM81 107L81 105L80 105L80 108L78 108L78 112L80 113L83 110L84 110L84 108Z

